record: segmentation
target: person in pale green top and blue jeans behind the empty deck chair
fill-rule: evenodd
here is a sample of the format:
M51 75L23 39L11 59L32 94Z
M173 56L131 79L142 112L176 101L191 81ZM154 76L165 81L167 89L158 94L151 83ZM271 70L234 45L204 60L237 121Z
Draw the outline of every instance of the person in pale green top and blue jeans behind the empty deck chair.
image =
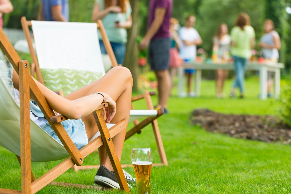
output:
M131 7L128 0L95 0L92 20L102 19L104 29L118 64L123 64L125 44L127 42L127 28L132 26ZM98 32L102 54L107 54Z

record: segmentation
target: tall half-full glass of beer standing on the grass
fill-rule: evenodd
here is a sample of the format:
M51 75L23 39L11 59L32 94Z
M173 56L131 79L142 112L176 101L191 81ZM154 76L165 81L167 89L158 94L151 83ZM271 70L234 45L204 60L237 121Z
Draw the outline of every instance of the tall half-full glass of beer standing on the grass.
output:
M151 194L150 171L152 169L152 149L150 147L133 148L131 150L131 161L137 181L137 193Z

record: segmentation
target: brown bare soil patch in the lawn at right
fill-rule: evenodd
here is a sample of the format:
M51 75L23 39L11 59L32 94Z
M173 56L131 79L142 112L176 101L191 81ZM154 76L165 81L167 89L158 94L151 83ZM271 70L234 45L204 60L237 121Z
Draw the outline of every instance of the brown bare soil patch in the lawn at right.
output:
M190 120L207 131L235 138L291 144L291 128L272 115L227 115L208 109L196 109Z

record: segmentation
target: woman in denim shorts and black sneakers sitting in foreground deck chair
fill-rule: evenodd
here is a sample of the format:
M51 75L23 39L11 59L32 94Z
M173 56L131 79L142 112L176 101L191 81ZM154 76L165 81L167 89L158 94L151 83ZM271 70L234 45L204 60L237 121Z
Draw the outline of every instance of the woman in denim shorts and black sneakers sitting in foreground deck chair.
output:
M38 81L35 80L35 82L52 109L70 119L63 121L62 124L78 149L88 144L88 140L98 132L92 112L102 102L108 103L107 123L117 123L120 120L125 120L128 123L133 81L130 71L125 67L113 67L102 78L65 97L57 95ZM13 70L13 84L14 88L19 90L19 76L15 70ZM38 114L40 111L38 106L35 107L35 110L31 108L31 119L61 143L47 120ZM112 138L119 161L121 159L125 134L126 128ZM97 171L94 182L104 187L119 188L104 146L99 148L99 156L100 168ZM126 180L128 182L134 181L128 175Z

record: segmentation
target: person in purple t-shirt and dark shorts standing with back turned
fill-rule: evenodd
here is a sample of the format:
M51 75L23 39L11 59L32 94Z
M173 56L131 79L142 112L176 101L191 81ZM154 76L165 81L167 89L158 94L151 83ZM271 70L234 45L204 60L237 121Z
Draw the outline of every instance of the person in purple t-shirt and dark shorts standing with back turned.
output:
M151 69L158 80L158 105L167 113L167 103L171 90L171 77L168 71L170 40L170 19L172 0L150 0L148 31L141 40L140 49L148 49Z

